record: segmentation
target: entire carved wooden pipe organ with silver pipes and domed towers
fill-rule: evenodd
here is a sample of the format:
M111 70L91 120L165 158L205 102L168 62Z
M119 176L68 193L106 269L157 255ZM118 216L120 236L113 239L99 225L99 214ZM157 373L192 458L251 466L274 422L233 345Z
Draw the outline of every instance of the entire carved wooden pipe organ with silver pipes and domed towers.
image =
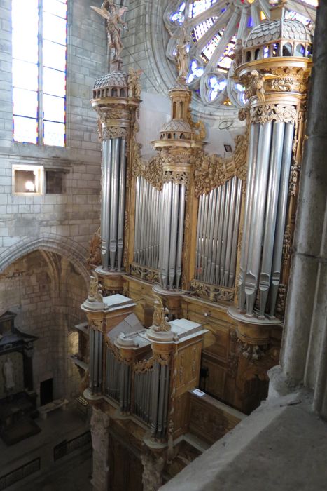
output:
M169 90L171 119L147 162L137 143L139 74L113 60L95 83L102 201L82 305L90 331L84 395L127 439L132 433L140 452L145 444L166 464L191 431L195 387L199 397L209 393L199 421L211 441L233 424L210 398L249 414L279 361L312 43L300 21L282 15L272 8L272 22L252 29L233 62L248 105L228 159L204 150L183 64ZM284 56L290 36L302 57Z

